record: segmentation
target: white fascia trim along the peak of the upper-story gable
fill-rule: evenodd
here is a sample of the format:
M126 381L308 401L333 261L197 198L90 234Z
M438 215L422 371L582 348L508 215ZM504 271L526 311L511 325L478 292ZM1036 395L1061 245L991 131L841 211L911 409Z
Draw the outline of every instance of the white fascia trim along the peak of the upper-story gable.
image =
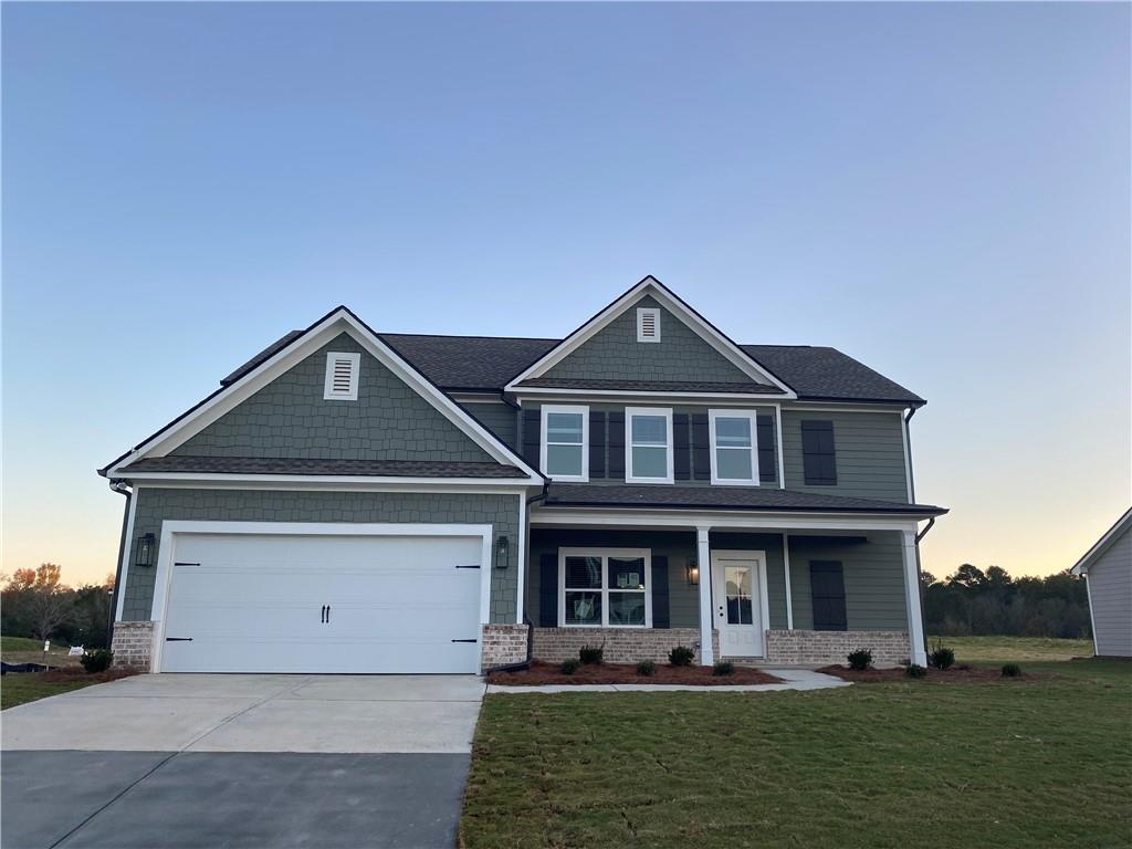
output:
M662 307L679 317L685 324L692 327L692 329L698 333L700 336L707 342L707 344L714 348L724 359L730 361L753 380L779 387L783 391L783 393L786 393L782 397L797 397L794 389L758 366L758 363L755 362L749 354L744 352L738 345L707 324L677 298L674 298L669 293L668 289L652 276L648 276L642 280L629 291L601 310L601 312L574 331L574 333L563 340L543 357L535 360L531 366L507 384L505 387L506 392L521 391L517 388L517 384L521 384L528 378L538 377L561 362L569 354L585 344L585 342L588 342L597 333L607 327L609 323L617 318L621 312L636 303L636 301L644 294L651 294L655 298Z

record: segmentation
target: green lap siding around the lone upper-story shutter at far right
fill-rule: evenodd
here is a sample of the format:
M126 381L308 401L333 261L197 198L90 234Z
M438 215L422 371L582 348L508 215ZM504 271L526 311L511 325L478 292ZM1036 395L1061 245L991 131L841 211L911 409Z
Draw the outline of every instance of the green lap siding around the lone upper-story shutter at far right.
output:
M801 454L804 420L833 422L835 487L806 486ZM812 412L783 406L782 447L787 489L908 503L903 419L897 412Z

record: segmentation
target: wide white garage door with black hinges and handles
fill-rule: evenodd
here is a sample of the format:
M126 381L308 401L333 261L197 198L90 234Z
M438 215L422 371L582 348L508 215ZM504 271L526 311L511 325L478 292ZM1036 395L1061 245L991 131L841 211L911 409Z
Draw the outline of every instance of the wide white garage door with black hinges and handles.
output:
M477 672L478 537L177 534L165 672Z

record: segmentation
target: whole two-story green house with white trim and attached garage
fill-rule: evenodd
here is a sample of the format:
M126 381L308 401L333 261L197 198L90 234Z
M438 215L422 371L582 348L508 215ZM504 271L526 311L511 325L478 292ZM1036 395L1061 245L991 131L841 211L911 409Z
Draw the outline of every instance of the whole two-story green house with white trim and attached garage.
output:
M925 662L925 402L833 349L738 345L645 277L565 340L340 307L221 384L100 472L128 499L121 661Z

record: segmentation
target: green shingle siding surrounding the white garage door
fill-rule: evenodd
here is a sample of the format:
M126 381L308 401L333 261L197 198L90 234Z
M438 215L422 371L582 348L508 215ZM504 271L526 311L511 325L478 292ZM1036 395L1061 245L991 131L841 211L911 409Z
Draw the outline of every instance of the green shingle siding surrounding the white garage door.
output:
M483 564L491 569L494 623L515 620L518 593L517 495L456 495L445 492L316 492L232 489L158 489L143 487L134 517L131 551L138 537L152 533L161 542L165 520L222 522L397 522L490 524L496 537L508 538L508 563ZM154 555L154 563L157 556ZM122 619L149 619L156 566L129 566Z

